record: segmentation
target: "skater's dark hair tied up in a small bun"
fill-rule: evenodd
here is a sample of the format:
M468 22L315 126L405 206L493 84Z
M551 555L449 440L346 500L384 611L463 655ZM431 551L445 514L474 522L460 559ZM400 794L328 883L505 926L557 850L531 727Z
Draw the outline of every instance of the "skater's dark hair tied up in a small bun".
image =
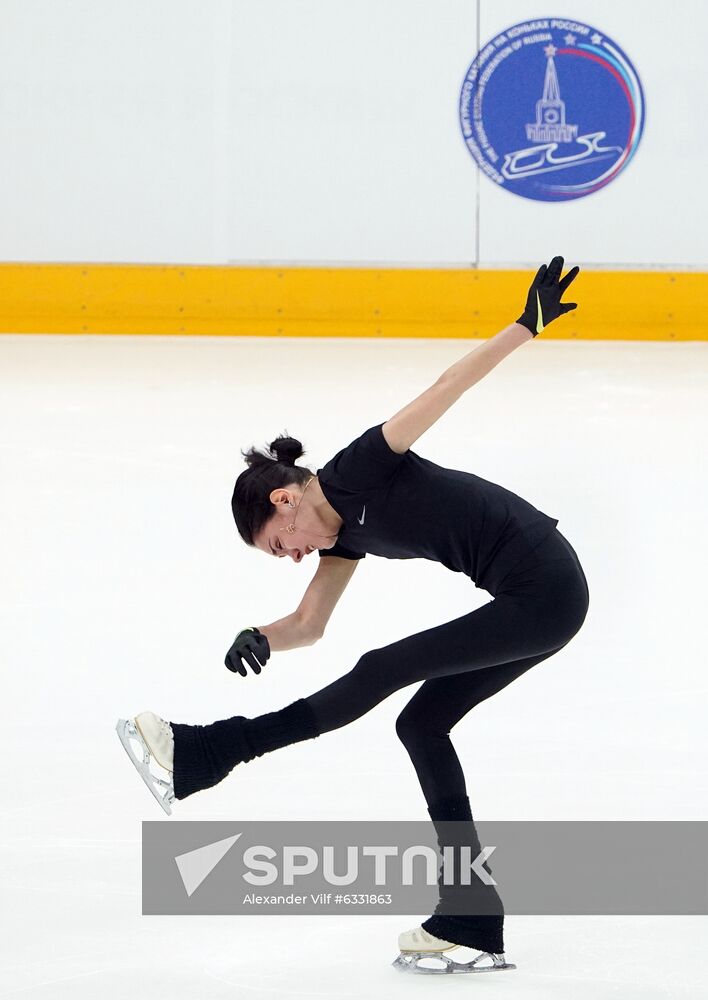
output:
M231 498L238 533L246 545L251 546L255 545L255 535L275 513L275 505L270 500L273 490L304 486L315 474L304 466L295 465L305 452L299 441L288 437L287 431L277 437L267 450L268 454L255 448L241 452L248 468L236 480Z

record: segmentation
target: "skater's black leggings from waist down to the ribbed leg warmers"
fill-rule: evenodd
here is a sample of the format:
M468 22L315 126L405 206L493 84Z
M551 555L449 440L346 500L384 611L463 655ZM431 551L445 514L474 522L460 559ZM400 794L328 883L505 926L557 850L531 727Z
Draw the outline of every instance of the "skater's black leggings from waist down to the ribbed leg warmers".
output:
M428 805L466 795L450 730L470 709L563 648L587 614L582 567L558 529L476 611L365 653L310 695L321 732L339 729L424 680L396 720Z

